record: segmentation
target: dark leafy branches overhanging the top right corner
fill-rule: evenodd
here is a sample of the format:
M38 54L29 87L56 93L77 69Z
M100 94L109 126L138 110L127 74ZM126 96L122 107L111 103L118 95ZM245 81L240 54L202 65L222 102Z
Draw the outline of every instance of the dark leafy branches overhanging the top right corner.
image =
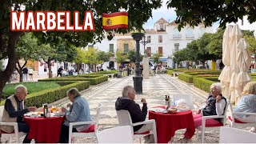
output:
M238 22L238 18L242 19L245 15L250 23L256 21L254 0L169 0L166 4L176 11L178 30L186 25L198 26L202 21L205 26L219 22L220 27L225 27L226 23Z

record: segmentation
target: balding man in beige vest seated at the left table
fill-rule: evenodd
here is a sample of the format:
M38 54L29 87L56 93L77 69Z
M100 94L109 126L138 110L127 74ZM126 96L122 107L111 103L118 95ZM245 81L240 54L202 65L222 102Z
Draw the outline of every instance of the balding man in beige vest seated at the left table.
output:
M18 122L18 131L28 133L30 129L22 120L23 114L26 114L29 111L35 111L37 108L35 106L29 108L25 107L24 99L26 98L26 94L27 90L25 86L16 86L15 94L6 99L2 114L2 122ZM1 130L11 133L14 130L14 126L1 126ZM30 142L31 139L28 139L26 134L23 143Z

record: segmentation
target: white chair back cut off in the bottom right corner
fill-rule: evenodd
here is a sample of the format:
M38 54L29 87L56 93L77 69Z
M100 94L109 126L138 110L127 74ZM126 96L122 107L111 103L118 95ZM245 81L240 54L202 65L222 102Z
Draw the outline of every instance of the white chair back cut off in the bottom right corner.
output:
M222 126L219 143L255 143L256 134L250 131Z

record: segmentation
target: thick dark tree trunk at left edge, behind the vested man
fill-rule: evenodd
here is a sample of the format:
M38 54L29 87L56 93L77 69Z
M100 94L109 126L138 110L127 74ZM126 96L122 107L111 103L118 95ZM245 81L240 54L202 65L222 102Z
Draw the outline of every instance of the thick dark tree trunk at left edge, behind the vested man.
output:
M11 74L14 71L14 67L16 64L16 54L15 54L16 41L18 40L19 36L22 34L24 34L24 32L16 32L16 31L10 32L10 36L8 40L8 50L7 50L8 63L6 66L6 70L0 72L0 100L2 98L2 90L6 86L6 82L9 80ZM2 50L2 45L0 49Z

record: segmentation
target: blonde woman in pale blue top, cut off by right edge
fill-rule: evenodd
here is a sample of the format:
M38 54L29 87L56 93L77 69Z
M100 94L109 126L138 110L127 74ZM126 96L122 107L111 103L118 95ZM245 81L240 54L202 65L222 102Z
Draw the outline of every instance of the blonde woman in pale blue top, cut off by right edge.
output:
M256 113L256 82L248 82L242 91L242 98L234 112ZM256 116L235 115L241 122L256 122ZM251 131L256 132L255 127Z

